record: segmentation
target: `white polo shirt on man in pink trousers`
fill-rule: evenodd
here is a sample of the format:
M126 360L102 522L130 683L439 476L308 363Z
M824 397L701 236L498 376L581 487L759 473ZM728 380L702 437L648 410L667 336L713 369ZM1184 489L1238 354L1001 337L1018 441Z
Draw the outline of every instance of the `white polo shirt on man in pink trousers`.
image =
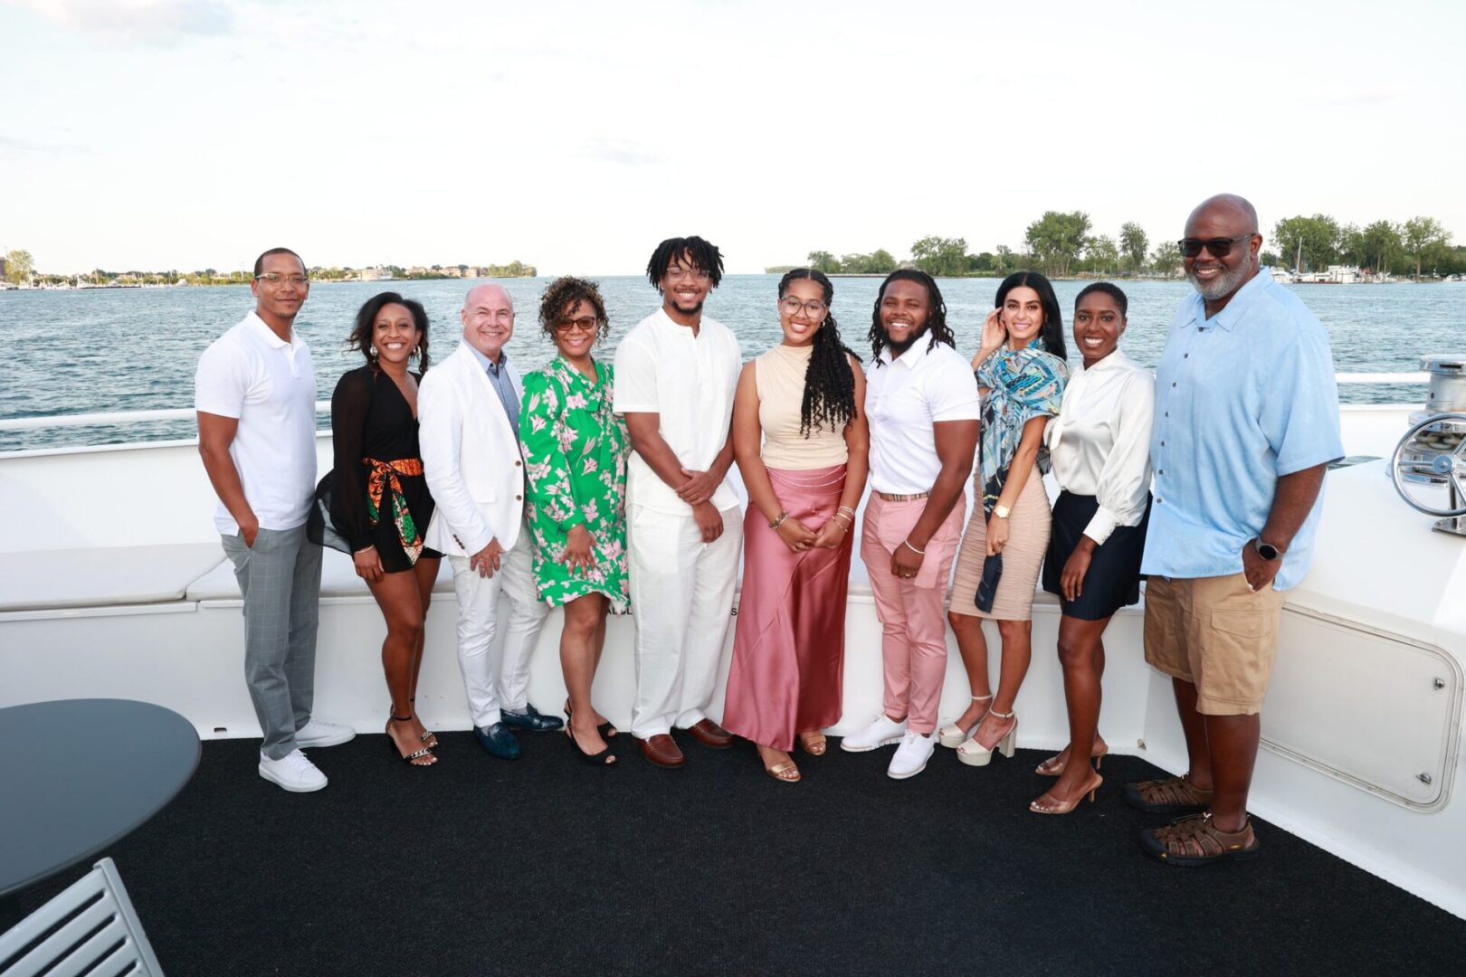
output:
M871 488L891 495L929 492L941 475L938 420L978 420L982 401L972 366L929 335L891 359L890 349L865 371L865 416L871 423Z

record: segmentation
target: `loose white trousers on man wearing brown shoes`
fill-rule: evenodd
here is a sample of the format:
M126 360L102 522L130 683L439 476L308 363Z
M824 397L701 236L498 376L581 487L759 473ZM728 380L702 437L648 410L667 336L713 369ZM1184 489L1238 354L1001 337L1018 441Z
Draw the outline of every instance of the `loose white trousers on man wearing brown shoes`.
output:
M636 700L632 735L642 740L707 718L743 552L739 508L723 535L702 542L692 516L627 507L632 614L636 615Z

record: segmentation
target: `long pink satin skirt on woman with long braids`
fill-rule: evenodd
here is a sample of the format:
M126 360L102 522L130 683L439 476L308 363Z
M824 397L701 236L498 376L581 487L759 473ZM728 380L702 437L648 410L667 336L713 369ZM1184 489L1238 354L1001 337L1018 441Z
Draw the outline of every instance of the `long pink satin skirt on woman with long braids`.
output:
M768 469L789 519L819 532L840 507L844 466ZM796 732L840 721L844 598L850 538L837 549L793 552L755 505L743 517L743 593L723 727L745 740L792 750Z

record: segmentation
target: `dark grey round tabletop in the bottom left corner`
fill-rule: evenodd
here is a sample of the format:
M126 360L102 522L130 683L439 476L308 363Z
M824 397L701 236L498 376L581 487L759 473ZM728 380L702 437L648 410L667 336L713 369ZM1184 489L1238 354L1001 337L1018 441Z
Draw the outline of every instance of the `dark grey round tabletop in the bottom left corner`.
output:
M129 699L0 709L0 917L15 911L6 896L95 855L158 813L199 757L194 724Z

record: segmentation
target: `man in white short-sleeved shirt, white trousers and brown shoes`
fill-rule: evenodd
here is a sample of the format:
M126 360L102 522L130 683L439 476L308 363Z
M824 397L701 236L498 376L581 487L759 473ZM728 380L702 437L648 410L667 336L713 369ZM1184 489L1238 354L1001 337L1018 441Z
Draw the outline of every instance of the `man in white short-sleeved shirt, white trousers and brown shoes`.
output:
M647 277L661 308L616 349L616 413L626 416L636 700L632 735L664 768L686 762L671 728L715 750L733 737L708 718L733 609L743 521L733 464L737 338L702 315L723 255L701 237L657 246Z

